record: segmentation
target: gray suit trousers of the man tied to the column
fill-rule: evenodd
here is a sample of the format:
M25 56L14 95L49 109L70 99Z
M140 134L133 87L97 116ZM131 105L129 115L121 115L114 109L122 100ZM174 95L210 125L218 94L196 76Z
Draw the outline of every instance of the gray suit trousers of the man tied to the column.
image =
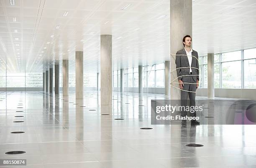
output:
M192 91L195 92L197 90L197 85L196 84L187 84L187 83L197 83L195 82L195 80L192 79L192 76L189 76L188 80L186 81L182 81L184 82L184 86L183 86L183 90L187 90L187 91ZM196 93L192 93L192 92L186 92L181 90L181 105L186 107L188 105L188 100L187 100L187 96L189 96L189 106L195 106L195 95ZM181 112L181 116L185 117L187 115L187 111L183 111ZM194 113L189 113L189 116L191 117L196 117L196 112Z

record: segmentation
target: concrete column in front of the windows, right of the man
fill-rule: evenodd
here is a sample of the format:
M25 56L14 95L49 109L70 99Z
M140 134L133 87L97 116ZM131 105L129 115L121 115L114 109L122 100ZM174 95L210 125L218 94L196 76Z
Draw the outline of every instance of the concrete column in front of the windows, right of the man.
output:
M201 79L202 80L202 79ZM208 98L214 98L214 54L207 54Z

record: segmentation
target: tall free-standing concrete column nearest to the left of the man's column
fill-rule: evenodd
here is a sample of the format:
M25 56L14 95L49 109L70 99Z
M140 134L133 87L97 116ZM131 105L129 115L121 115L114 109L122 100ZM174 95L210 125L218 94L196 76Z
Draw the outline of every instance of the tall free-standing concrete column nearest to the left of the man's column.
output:
M100 102L112 105L112 35L100 35Z

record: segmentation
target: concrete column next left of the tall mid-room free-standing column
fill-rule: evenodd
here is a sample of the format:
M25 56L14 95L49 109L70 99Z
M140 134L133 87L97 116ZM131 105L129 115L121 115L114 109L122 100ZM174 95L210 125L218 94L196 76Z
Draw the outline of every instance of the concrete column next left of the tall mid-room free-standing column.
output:
M76 51L76 99L84 98L84 55Z

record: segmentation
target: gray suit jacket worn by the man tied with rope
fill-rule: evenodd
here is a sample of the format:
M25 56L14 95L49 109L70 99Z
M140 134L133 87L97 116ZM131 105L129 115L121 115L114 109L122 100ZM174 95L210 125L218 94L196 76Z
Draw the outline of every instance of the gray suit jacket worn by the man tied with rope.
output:
M185 49L183 48L182 50L177 51L176 53L176 68L177 69L177 76L178 76L178 80L182 80L183 82L192 82L190 81L190 77L189 76L182 76L182 75L189 75L189 68L182 68L182 67L189 67L189 61L187 58L187 53L185 51ZM181 56L182 55L182 56ZM191 63L191 70L192 70L192 75L199 75L199 70L195 69L198 68L199 69L199 63L198 63L198 53L195 50L192 50L192 63ZM192 68L195 67L195 68ZM194 81L197 81L197 79L199 80L199 76L192 76Z

